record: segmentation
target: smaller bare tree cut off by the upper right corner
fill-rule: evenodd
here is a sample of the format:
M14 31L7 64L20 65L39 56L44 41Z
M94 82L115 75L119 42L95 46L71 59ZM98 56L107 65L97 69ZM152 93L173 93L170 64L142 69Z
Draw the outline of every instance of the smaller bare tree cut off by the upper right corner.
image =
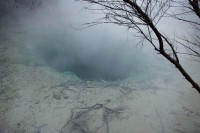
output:
M189 35L177 37L176 42L186 49L186 53L181 54L190 55L195 61L200 62L200 2L199 0L174 0L173 3L169 17L189 24L193 31Z

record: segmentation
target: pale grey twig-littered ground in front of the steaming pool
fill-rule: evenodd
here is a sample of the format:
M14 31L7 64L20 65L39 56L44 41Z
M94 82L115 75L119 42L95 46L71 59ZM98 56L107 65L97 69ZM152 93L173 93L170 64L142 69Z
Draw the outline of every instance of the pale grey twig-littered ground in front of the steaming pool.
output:
M30 53L12 30L0 36L2 133L200 132L199 94L177 73L85 81Z

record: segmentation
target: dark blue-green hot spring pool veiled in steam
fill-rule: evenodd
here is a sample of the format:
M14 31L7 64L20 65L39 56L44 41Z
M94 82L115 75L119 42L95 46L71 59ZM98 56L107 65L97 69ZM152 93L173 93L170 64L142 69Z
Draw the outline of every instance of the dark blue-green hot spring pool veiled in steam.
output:
M35 51L56 70L71 71L87 80L124 79L141 70L139 59L134 57L138 53L125 42L98 40L95 35L88 33L92 40L79 40L78 35L47 35Z

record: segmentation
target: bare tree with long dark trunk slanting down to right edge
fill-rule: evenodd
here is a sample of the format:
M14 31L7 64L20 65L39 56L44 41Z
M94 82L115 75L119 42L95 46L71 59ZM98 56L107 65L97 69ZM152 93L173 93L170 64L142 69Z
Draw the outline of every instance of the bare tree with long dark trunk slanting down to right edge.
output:
M179 61L179 54L176 49L177 45L182 44L186 48L188 45L185 42L193 43L191 40L174 41L170 39L167 35L159 31L157 24L163 17L170 17L169 12L171 8L176 8L178 1L172 0L82 0L89 2L95 6L89 8L90 10L100 11L105 14L104 17L99 18L96 21L87 23L88 26L94 26L102 23L112 23L120 26L125 26L130 30L136 32L136 37L140 38L140 43L148 43L152 45L159 54L170 61L185 77L185 79L191 83L192 87L195 88L200 93L200 86L194 81L194 79L186 72ZM189 9L192 9L194 13L199 16L199 8L197 8L196 1L198 0L188 0L190 5ZM187 2L188 2L187 1ZM184 7L184 4L179 5ZM199 6L199 5L198 5ZM178 6L177 6L178 7ZM187 6L188 7L188 6ZM172 10L173 13L173 10ZM182 13L184 14L184 13ZM171 14L173 17L177 17L178 14ZM177 18L184 20L184 18ZM187 19L184 20L187 22ZM193 24L193 21L189 21ZM195 40L195 44L199 44L199 41ZM195 53L192 47L187 48L191 55L199 54ZM192 51L194 50L194 51ZM187 53L188 54L188 53ZM198 55L199 56L199 55Z

